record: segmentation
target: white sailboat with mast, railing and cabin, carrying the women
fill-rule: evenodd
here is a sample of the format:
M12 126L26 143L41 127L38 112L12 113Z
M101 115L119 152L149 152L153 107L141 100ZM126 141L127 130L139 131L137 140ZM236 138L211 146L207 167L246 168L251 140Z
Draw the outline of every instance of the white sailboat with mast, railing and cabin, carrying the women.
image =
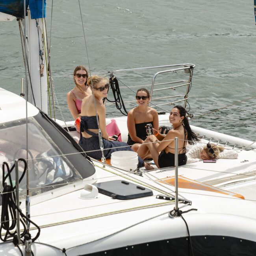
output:
M11 2L18 11L0 11L23 19L23 1ZM43 62L33 62L40 59L39 47L47 53L47 41L32 43L38 26L45 26L42 10L39 16L38 9L32 15L28 11L28 48L34 56L25 61L33 85L30 99L28 89L26 99L24 93L0 89L1 255L255 255L255 143L191 126L205 142L237 150L238 158L150 172L89 158L77 144L74 122L47 115L47 54L42 54ZM170 99L186 104L194 68L182 63L116 70L111 76L156 70L151 103L160 107ZM162 74L179 72L186 78L155 82ZM165 97L154 96L156 90L179 87L185 88L184 94L170 93L166 103ZM160 126L169 126L168 116L160 111ZM125 141L126 116L115 121Z

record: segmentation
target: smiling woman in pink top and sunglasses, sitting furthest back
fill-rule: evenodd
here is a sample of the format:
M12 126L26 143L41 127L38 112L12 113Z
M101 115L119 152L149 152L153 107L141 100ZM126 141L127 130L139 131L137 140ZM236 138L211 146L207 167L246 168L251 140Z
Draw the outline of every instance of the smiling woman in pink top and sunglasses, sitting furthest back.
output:
M84 66L77 66L73 73L75 87L67 93L67 103L70 113L76 120L81 117L82 100L92 94L91 88L87 85L88 72Z

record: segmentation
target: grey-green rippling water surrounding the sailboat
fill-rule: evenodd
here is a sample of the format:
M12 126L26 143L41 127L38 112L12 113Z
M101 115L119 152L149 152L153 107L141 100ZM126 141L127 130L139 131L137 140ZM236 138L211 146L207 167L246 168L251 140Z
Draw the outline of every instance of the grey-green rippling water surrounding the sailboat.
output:
M193 124L256 140L256 98L246 100L256 96L253 1L81 0L80 4L93 74L194 63L190 112L199 117L234 105L197 118ZM48 35L51 7L48 1ZM0 22L0 46L0 87L20 93L24 67L15 20ZM70 119L65 96L73 87L70 75L77 65L88 67L78 1L53 2L50 51L59 105ZM140 79L131 76L130 82L134 78ZM111 109L111 113L117 112Z

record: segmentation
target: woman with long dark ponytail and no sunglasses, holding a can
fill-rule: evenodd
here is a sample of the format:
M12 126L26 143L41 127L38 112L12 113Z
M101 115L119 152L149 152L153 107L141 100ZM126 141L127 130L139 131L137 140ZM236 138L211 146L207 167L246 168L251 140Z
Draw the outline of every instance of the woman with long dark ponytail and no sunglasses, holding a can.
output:
M187 162L187 143L195 144L195 141L199 141L199 138L189 126L186 113L186 109L182 106L175 106L169 116L173 130L169 130L165 136L159 133L148 136L137 150L138 156L145 159L150 153L158 168L174 166L174 138L178 137L178 165L185 165Z

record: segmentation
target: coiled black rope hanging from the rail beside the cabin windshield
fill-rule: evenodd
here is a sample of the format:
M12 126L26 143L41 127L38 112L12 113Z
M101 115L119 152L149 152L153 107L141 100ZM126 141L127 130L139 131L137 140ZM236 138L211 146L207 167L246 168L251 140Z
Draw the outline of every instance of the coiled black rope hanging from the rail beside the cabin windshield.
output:
M24 170L22 172L22 175L19 178L19 183L21 182L22 178L24 177L27 169L27 163L23 158L19 158L18 161L22 161L24 163ZM35 241L39 235L40 235L40 228L35 224L33 221L31 221L26 215L22 213L19 206L16 205L16 196L15 196L15 189L16 184L13 186L13 182L11 180L11 172L13 171L15 167L15 164L9 168L8 163L4 162L2 165L2 185L3 185L3 192L1 194L2 196L2 213L1 213L1 225L0 225L0 239L4 242L6 241L13 241L15 246L18 246L18 240L17 240L17 230L14 230L17 224L17 216L16 216L16 210L20 213L20 223L22 223L23 226L23 232L20 234L20 238L30 235L28 233L28 230L26 229L26 220L32 223L34 226L37 227L38 232L37 235L32 239L32 242ZM5 175L6 173L6 175ZM9 184L7 184L7 179L9 180ZM9 216L10 215L10 216ZM6 230L6 234L4 237L2 237L2 230ZM14 230L14 231L12 231ZM12 237L12 239L10 239ZM22 240L21 240L22 241ZM22 241L24 242L24 241Z

